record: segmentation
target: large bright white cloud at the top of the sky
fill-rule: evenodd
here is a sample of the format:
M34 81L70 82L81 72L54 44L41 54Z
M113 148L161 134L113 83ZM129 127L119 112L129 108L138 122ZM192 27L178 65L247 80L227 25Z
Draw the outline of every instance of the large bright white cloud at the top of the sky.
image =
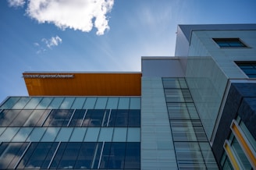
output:
M54 23L62 30L90 32L96 27L96 34L101 35L109 30L106 14L113 5L114 0L28 0L27 14L39 23Z

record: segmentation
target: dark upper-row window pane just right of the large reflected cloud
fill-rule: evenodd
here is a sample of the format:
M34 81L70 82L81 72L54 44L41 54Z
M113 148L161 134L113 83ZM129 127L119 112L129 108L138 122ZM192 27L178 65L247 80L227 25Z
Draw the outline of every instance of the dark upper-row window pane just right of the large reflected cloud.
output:
M69 119L73 115L73 110L55 109L52 110L44 126L68 126Z

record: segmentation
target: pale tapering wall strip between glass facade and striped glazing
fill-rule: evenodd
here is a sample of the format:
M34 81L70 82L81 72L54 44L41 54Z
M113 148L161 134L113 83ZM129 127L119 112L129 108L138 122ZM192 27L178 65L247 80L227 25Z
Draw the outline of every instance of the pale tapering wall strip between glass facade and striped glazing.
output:
M162 79L141 83L141 169L177 169Z

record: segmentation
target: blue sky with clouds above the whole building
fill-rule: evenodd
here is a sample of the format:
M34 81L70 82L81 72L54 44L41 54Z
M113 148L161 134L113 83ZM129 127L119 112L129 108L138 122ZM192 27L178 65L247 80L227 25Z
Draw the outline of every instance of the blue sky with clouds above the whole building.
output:
M0 102L22 73L137 72L174 55L177 24L256 23L256 0L0 0Z

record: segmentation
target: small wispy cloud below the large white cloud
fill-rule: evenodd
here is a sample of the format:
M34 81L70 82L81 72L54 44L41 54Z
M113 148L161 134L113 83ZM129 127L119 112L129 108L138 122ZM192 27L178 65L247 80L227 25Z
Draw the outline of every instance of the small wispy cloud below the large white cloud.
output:
M58 35L51 38L42 38L41 42L34 42L34 47L37 48L37 54L40 54L44 51L47 51L48 49L52 49L55 46L58 46L62 43L62 38L60 38Z

